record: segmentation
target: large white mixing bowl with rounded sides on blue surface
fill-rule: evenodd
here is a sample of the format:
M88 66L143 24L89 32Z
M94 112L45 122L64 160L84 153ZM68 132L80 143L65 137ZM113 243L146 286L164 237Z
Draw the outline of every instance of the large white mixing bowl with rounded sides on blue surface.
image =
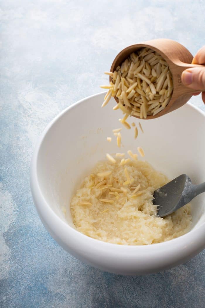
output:
M84 176L105 154L119 152L108 143L119 128L121 111L114 99L101 108L104 94L90 96L58 115L40 137L31 161L30 185L37 212L51 236L79 260L118 274L149 274L179 265L205 247L205 194L192 203L193 223L187 234L171 241L140 246L105 243L78 232L70 214L70 199ZM138 124L138 119L132 118ZM131 122L130 121L130 122ZM205 181L205 115L187 103L154 120L141 120L144 134L122 129L121 150L136 152L172 179L182 173L194 184ZM67 219L61 207L67 209Z

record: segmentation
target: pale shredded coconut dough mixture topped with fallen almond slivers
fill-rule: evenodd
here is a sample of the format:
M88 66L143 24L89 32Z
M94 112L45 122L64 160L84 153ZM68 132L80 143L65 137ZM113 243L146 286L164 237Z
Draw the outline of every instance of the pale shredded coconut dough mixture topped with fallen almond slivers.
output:
M191 226L190 205L164 218L156 216L153 193L168 179L133 155L136 154L130 153L127 159L120 153L109 155L86 176L71 200L76 229L120 245L154 244L187 233Z

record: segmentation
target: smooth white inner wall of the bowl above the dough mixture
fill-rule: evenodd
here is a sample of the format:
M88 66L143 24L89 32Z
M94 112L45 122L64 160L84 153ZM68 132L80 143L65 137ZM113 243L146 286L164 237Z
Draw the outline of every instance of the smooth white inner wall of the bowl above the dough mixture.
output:
M51 209L74 227L70 214L70 199L83 178L106 153L137 153L141 146L145 159L169 179L186 173L193 184L205 181L205 145L201 134L205 131L205 116L197 108L183 107L153 120L129 118L139 129L134 139L134 129L123 128L122 148L116 145L112 129L119 128L120 110L113 111L116 104L101 108L104 94L94 95L73 105L59 115L46 130L37 158L38 182ZM106 138L112 137L109 143ZM205 194L192 202L192 228L205 221ZM66 217L61 208L66 208Z

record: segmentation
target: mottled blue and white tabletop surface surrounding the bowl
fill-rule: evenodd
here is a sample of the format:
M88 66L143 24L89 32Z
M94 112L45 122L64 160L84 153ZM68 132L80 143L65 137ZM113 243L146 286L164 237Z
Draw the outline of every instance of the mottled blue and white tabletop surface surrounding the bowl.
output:
M29 187L39 134L59 111L100 91L122 48L167 37L195 54L204 16L203 0L1 1L1 307L205 306L204 251L147 276L91 268L49 236ZM205 110L200 97L191 102Z

